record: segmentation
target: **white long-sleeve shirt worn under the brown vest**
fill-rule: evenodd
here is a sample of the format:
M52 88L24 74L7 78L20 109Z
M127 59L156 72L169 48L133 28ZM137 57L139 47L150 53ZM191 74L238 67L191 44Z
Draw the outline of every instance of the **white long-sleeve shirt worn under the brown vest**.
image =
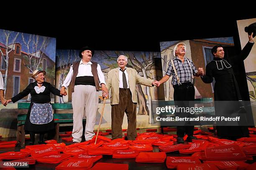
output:
M78 67L77 77L93 76L91 65L92 65L92 62L87 62L87 64L84 64L81 60L79 63L79 67ZM101 71L99 64L97 65L97 73L98 73L100 84L102 84L102 83L106 84L105 77L103 75L103 72ZM69 73L67 74L67 77L64 80L62 86L64 86L65 88L67 88L69 86L71 79L72 79L72 75L73 75L73 65L71 65Z

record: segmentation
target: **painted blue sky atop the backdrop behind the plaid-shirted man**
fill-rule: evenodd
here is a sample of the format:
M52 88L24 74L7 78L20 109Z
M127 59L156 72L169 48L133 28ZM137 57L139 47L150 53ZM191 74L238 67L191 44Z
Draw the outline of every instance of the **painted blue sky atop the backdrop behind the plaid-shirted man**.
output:
M209 41L215 41L215 42L225 42L225 43L234 43L233 37L220 37L220 38L206 38L202 40L209 40ZM166 49L167 47L170 47L174 44L177 44L179 41L165 41L160 42L160 49L161 51Z

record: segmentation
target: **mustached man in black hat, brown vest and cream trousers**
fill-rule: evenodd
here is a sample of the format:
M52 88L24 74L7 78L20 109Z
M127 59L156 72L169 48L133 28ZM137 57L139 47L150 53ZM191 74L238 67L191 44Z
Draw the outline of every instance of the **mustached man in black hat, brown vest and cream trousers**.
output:
M72 91L73 107L73 143L80 143L82 140L82 120L85 112L86 126L84 130L85 140L91 140L95 135L93 132L96 112L98 108L98 94L100 85L102 92L108 93L105 87L105 77L97 62L92 62L94 50L83 47L79 52L81 61L74 62L61 87L61 94L67 95L66 88Z

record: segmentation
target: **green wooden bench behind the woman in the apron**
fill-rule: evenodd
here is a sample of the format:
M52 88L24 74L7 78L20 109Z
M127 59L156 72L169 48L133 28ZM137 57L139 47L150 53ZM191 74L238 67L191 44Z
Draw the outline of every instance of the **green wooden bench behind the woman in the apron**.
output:
M30 103L18 103L18 109L28 109ZM52 103L52 109L56 110L64 110L64 109L72 109L72 104L69 103ZM61 126L70 126L69 124L73 123L73 113L54 113L54 124L55 124L55 137L54 139L57 140L59 143L59 127ZM17 141L20 143L21 147L25 146L25 120L27 115L20 114L17 117L18 124L17 124ZM83 124L85 126L86 120L83 119Z

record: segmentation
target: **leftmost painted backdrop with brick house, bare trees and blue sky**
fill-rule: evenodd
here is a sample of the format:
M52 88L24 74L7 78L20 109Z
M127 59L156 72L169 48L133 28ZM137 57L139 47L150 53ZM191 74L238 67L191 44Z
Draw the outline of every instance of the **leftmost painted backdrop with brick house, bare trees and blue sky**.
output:
M55 84L56 39L22 32L0 30L0 71L4 80L5 98L10 99L33 82L36 69L46 70L46 81ZM18 102L30 102L28 95ZM54 96L52 95L52 101ZM16 136L17 104L0 105L0 134Z

